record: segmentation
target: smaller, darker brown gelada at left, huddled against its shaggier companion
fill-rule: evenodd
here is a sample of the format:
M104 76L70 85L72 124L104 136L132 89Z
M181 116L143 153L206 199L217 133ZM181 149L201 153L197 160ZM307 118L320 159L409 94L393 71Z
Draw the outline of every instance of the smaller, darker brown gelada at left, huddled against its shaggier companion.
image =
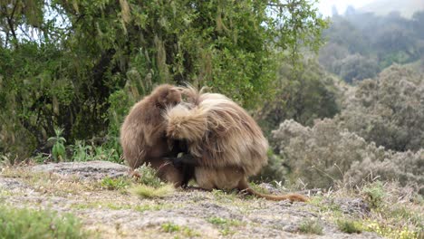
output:
M149 163L158 169L161 179L184 186L191 177L192 168L169 164L169 158L176 158L184 148L180 141L166 138L167 125L163 117L168 108L179 102L181 90L178 87L159 85L131 108L120 128L120 144L124 159L132 169Z

